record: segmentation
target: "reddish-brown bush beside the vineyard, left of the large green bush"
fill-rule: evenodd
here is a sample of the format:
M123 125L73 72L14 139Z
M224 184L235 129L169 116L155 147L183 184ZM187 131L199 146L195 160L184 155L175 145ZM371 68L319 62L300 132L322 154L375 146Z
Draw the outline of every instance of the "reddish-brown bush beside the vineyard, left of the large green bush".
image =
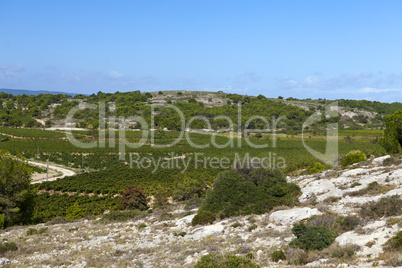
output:
M133 210L147 210L147 197L140 186L133 188L133 186L127 186L127 189L122 193L120 197L120 204L123 209Z

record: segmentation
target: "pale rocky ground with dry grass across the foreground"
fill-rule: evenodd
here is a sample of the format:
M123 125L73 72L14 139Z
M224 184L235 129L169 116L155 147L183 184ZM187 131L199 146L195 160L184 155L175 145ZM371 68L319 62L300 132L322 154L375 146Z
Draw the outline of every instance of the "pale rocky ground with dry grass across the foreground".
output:
M276 208L271 213L232 217L207 226L191 226L196 208L170 204L165 209L155 209L123 222L102 222L99 217L12 227L1 231L0 239L15 242L18 250L5 253L0 264L4 267L193 267L205 254L231 253L248 254L261 267L285 267L292 258L302 254L301 250L287 246L295 238L291 233L293 223L328 212L357 214L361 204L402 194L402 164L383 166L385 158L352 169L288 178L302 188L300 207ZM348 195L374 181L387 191L374 196ZM29 235L29 228L47 229L42 234ZM338 236L329 249L310 253L307 266L371 267L395 263L402 260L401 256L382 251L383 244L399 229L398 224L390 225L386 218L362 221L355 230ZM360 246L353 257L331 257L331 250L350 244ZM270 260L271 253L278 249L285 251L288 260L280 263Z

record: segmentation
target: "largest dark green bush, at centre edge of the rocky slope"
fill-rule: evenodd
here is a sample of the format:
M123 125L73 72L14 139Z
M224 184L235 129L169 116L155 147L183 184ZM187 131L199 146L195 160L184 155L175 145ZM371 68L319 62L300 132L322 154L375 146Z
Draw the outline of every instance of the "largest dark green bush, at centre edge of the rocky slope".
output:
M276 206L296 205L299 195L300 188L287 183L278 170L231 170L218 176L199 212L211 211L221 218L262 214Z

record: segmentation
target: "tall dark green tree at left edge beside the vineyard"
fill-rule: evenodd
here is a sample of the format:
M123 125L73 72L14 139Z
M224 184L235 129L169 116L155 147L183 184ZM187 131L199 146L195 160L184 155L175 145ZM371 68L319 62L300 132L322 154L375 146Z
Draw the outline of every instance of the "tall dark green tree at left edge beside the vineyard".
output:
M5 226L30 221L34 206L31 175L25 160L0 151L0 214Z

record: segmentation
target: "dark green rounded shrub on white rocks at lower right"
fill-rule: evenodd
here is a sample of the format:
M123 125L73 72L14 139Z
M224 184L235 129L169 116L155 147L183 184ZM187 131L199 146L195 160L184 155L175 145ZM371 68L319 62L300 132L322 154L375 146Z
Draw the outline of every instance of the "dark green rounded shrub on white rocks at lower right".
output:
M309 226L304 223L294 224L293 234L297 237L290 242L290 247L303 250L322 250L334 242L337 232L331 231L324 226Z

